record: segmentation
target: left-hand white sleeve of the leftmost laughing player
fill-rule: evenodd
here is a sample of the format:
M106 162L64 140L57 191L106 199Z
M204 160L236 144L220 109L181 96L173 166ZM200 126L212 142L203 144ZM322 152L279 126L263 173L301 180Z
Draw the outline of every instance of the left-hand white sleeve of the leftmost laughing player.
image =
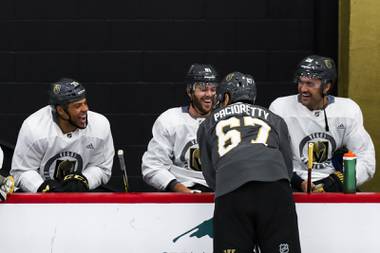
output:
M10 171L17 187L25 192L37 192L44 181L38 172L42 156L43 149L33 141L32 129L24 122L17 138Z

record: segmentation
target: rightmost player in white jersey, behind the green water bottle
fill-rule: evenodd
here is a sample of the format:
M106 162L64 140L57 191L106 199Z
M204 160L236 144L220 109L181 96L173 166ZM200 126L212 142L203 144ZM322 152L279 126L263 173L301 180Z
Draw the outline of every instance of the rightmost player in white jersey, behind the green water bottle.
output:
M269 109L288 125L293 149L293 187L306 191L307 146L314 143L312 188L343 191L341 150L357 155L357 186L375 173L375 150L364 129L360 107L351 99L328 95L336 81L332 59L317 55L304 58L295 73L298 94L277 98ZM320 187L315 187L320 186Z

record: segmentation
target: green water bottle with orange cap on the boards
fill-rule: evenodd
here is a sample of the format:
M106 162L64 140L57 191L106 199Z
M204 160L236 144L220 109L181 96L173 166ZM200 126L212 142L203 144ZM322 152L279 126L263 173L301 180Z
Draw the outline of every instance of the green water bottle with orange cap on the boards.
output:
M343 190L344 193L356 192L356 155L351 151L348 151L343 155L343 167L344 167L344 181Z

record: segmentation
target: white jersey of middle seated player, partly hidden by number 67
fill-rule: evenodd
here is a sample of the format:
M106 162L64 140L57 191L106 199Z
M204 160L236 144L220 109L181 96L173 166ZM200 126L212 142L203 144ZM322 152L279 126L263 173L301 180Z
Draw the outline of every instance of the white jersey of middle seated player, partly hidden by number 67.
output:
M202 175L197 131L205 118L193 118L188 107L162 113L153 125L153 138L142 158L142 175L148 184L164 190L173 179L187 187L207 186Z

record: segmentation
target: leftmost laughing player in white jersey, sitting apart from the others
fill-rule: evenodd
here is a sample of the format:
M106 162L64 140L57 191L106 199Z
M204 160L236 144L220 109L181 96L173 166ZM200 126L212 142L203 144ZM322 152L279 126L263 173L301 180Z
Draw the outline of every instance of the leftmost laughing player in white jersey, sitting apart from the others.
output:
M11 175L25 192L84 192L106 184L114 146L108 120L88 110L85 88L51 84L49 103L22 124Z

